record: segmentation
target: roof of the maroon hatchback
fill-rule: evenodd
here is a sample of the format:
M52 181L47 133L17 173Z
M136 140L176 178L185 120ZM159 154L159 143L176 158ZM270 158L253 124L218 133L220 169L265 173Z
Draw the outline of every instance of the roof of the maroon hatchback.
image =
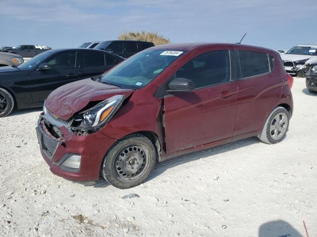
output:
M185 50L189 51L194 48L204 48L204 47L210 47L210 46L235 46L235 47L241 47L241 48L253 48L253 49L261 49L266 51L275 52L275 50L264 48L264 47L258 47L253 45L246 45L246 44L240 44L240 43L212 43L212 42L193 42L193 43L167 43L167 44L161 44L154 47L149 48L150 49L166 49L166 50Z

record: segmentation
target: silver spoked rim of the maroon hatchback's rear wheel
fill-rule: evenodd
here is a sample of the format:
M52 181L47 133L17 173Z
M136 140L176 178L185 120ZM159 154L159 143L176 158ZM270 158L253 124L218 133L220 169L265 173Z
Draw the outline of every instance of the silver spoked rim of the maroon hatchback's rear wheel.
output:
M269 134L273 140L278 140L286 133L288 118L285 113L278 113L274 116L269 126Z

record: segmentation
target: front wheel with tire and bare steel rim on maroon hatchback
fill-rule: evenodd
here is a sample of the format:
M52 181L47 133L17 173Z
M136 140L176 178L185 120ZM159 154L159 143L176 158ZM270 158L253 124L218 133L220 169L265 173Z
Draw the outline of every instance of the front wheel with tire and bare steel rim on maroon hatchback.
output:
M129 135L109 149L101 173L112 186L129 189L149 177L156 159L157 151L150 139L142 134Z

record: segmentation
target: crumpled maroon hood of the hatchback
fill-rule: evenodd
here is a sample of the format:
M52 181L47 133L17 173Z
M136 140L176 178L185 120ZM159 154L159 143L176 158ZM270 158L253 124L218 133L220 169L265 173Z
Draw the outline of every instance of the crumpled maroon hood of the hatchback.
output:
M45 106L53 116L68 120L85 108L90 101L102 101L114 95L128 97L132 92L132 89L121 89L92 79L84 79L54 90L46 99Z

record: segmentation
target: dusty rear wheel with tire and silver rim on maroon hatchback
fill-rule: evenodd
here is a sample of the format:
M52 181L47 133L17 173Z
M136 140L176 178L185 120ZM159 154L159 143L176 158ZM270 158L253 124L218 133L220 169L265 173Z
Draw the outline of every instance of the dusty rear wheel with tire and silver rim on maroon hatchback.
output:
M259 139L267 144L278 143L285 138L288 126L288 111L283 107L276 107L266 119Z

